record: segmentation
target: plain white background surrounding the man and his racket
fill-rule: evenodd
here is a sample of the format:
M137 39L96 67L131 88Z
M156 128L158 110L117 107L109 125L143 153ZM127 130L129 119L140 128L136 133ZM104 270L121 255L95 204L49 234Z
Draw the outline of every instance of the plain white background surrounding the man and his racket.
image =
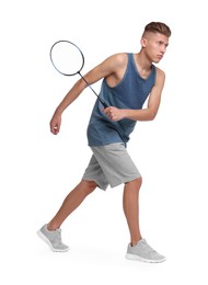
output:
M0 217L3 284L207 284L206 1L36 0L0 5ZM49 133L55 107L78 79L57 73L49 48L79 45L83 73L107 56L140 49L147 23L170 25L160 68L160 112L138 123L128 149L143 176L143 237L167 261L125 260L123 187L96 191L62 225L70 251L57 254L36 230L56 213L90 159L85 128L95 101L85 90ZM93 88L99 91L100 82Z

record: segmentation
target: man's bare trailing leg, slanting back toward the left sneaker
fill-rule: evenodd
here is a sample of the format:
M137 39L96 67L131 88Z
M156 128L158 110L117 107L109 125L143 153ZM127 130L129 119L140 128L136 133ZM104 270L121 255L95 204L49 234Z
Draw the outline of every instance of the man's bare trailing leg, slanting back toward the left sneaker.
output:
M47 229L58 229L63 220L96 189L94 181L82 180L65 198L55 217L48 223Z

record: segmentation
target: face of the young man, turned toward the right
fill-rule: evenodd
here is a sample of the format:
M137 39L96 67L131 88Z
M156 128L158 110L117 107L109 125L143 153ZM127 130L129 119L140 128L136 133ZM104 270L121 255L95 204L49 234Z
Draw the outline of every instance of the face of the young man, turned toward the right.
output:
M141 45L150 61L158 64L166 52L169 37L160 33L147 33L141 38Z

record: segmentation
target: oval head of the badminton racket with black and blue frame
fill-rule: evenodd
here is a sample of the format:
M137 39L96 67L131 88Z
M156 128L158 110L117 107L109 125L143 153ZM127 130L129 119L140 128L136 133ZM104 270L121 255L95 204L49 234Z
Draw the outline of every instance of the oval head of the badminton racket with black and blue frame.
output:
M76 76L84 66L84 56L72 42L66 39L56 42L49 54L53 66L63 76Z

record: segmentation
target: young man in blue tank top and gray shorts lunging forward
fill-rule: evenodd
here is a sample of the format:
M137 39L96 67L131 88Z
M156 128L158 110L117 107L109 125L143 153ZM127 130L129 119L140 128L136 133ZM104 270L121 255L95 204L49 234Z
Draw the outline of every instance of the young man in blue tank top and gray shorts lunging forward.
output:
M68 194L55 217L38 230L38 236L53 251L67 251L61 241L60 226L63 220L96 187L106 190L124 183L124 213L127 219L130 242L126 258L145 262L162 262L165 258L154 251L142 238L139 228L139 189L141 175L129 157L126 146L137 121L152 121L159 110L165 75L158 64L169 45L171 30L160 22L149 23L141 37L137 54L116 54L88 72L90 84L103 79L88 127L92 158L81 182ZM50 130L60 130L62 112L86 88L80 79L56 109L50 121ZM147 109L142 105L148 99Z

